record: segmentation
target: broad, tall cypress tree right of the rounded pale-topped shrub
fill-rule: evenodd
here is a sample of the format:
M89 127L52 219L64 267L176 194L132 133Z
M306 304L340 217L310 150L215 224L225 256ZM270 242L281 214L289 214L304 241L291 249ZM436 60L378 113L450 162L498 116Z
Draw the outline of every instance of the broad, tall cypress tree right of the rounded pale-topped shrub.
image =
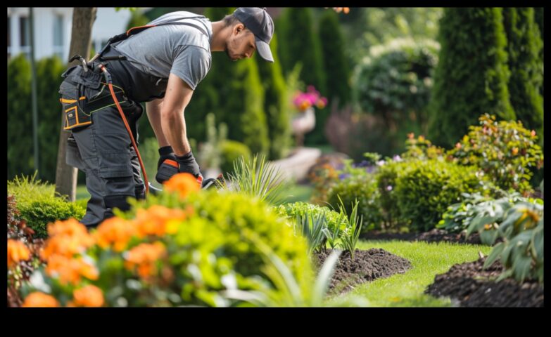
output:
M451 147L481 114L515 119L500 8L445 8L438 40L429 139Z

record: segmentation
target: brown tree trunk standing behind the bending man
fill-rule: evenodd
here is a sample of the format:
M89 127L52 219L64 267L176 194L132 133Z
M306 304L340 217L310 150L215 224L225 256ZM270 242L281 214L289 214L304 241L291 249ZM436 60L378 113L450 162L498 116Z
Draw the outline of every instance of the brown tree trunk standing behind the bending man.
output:
M79 54L89 59L91 46L91 29L96 20L96 7L81 8L75 7L72 11L72 31L69 57ZM78 60L71 62L68 66L77 65ZM63 130L65 124L64 112L61 114L61 131L59 133L58 162L56 168L56 192L70 201L75 201L77 192L77 169L65 164L65 150L67 138L70 132Z

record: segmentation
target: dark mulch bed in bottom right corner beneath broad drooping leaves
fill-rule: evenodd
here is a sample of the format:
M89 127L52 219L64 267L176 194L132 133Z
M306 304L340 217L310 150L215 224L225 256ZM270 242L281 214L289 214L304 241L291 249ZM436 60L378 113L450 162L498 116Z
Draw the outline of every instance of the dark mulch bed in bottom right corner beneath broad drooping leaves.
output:
M510 278L495 282L503 265L498 260L483 270L485 260L453 265L448 272L436 275L425 293L449 296L461 307L543 307L542 285Z

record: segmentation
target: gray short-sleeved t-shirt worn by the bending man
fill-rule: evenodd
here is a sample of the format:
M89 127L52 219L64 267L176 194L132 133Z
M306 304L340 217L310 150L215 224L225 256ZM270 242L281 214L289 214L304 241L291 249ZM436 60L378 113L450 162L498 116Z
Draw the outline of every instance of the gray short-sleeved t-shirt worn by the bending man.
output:
M160 16L148 25L188 18L179 21L201 27L208 36L188 25L163 25L132 35L113 48L146 74L167 79L172 73L195 90L210 70L210 39L213 36L213 24L210 20L190 19L197 16L200 15L186 11L172 12Z

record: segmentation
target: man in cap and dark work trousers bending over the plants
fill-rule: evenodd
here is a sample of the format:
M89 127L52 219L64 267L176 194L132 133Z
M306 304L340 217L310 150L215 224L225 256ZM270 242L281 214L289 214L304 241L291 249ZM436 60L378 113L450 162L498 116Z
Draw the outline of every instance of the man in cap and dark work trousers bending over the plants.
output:
M115 95L136 141L137 121L143 112L139 103L146 102L159 144L156 180L163 183L179 172L201 176L186 137L184 111L210 70L211 52L224 51L235 61L258 51L274 62L269 46L274 24L265 8L237 8L216 22L179 11L148 25L154 27L129 37L121 35L122 41L104 48L90 70L78 65L63 74L59 93L65 129L72 133L67 163L86 173L91 198L81 223L89 228L113 216L114 208L129 209L128 197L145 198L137 154L100 64L113 79ZM120 55L125 60L112 60Z

